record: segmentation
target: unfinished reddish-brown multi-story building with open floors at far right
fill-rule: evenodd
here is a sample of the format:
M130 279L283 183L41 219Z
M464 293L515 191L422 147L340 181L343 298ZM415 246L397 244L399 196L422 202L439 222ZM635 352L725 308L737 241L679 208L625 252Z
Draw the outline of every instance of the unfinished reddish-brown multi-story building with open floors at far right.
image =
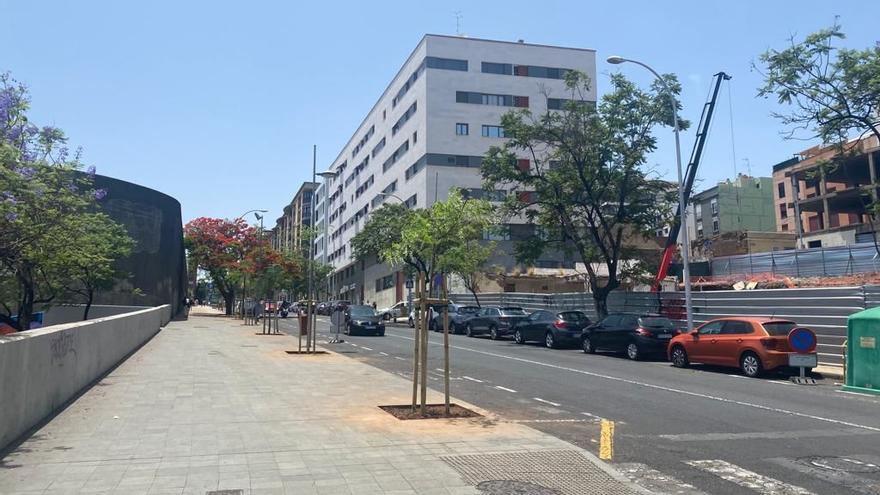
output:
M798 234L802 248L873 242L866 209L878 199L880 146L871 136L845 148L841 158L814 146L773 167L777 230Z

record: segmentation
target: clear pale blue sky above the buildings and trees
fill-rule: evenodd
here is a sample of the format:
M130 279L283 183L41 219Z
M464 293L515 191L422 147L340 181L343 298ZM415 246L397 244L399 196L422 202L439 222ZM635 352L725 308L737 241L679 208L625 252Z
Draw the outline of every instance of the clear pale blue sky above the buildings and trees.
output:
M455 11L472 37L596 49L600 94L611 71L650 82L608 55L674 72L694 124L712 74L731 74L701 187L746 160L769 175L813 144L783 140L775 103L755 98L750 62L762 51L835 15L845 46L880 39L880 3L855 1L0 0L0 71L30 86L33 121L63 128L99 173L174 196L184 221L251 208L274 219L310 177L312 144L325 169L421 37L455 34ZM671 132L661 134L651 163L674 179ZM692 145L684 134L685 160Z

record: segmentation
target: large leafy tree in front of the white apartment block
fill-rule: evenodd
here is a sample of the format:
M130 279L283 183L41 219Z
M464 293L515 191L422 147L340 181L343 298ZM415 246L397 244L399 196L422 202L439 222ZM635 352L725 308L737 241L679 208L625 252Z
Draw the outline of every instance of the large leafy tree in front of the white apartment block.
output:
M664 78L677 95L675 76ZM486 189L518 191L507 195L504 215L536 226L536 235L516 245L517 259L531 264L548 249L575 253L605 315L608 294L643 270L639 238L653 236L670 216L669 186L651 178L646 157L657 147L654 128L671 126L673 115L670 95L656 82L644 91L612 75L596 106L586 101L590 84L570 72L563 110L505 114L508 140L488 151L481 171Z

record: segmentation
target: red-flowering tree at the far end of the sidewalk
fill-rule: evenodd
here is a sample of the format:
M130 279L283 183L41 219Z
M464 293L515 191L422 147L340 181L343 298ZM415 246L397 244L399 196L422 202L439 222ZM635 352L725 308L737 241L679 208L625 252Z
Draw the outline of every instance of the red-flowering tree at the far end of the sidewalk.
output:
M190 259L208 272L223 296L226 314L231 315L238 275L246 265L243 262L260 244L257 229L240 218L199 217L184 226L183 234Z

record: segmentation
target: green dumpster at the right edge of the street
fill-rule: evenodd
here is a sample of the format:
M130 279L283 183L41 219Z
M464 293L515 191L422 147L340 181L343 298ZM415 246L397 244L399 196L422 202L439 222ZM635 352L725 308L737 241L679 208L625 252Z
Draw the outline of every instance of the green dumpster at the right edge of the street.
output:
M880 307L847 320L846 386L856 392L880 395Z

